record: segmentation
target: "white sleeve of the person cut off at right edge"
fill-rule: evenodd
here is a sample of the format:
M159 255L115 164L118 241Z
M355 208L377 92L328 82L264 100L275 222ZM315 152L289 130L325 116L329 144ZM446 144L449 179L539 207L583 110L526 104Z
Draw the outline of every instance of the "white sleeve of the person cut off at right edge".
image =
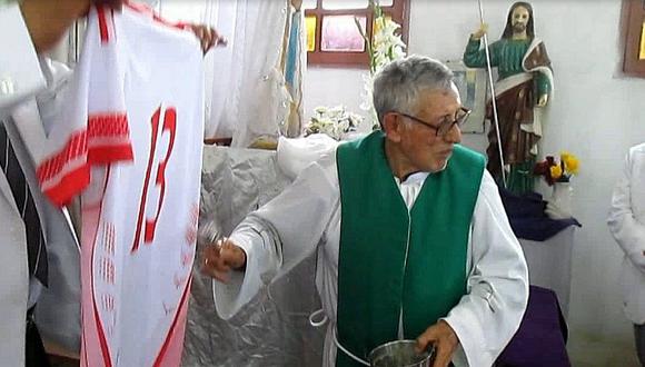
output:
M623 175L614 188L607 225L625 255L645 272L645 226L634 217L631 191L643 182L632 182L633 152L627 153Z

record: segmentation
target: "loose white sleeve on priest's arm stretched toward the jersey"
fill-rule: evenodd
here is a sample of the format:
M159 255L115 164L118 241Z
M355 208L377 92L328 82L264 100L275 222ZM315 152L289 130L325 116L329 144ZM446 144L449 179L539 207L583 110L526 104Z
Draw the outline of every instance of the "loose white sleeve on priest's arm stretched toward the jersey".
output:
M247 256L227 285L212 281L217 313L232 317L258 290L311 255L339 204L333 155L307 167L278 197L250 214L229 237Z

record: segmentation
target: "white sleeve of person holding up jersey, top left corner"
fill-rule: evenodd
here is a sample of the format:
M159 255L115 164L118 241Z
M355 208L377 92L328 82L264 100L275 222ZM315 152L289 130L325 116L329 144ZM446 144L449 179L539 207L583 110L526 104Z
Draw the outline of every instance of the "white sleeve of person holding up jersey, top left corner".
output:
M44 88L36 49L17 3L0 6L0 118Z

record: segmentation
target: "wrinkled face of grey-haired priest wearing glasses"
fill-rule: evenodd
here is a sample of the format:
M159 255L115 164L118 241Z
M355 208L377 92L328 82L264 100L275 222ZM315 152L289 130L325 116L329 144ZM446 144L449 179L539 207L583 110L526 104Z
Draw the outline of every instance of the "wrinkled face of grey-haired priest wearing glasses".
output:
M413 113L399 116L401 127L399 149L409 170L436 172L446 168L455 143L462 141L457 122L467 117L459 92L450 89L421 90Z

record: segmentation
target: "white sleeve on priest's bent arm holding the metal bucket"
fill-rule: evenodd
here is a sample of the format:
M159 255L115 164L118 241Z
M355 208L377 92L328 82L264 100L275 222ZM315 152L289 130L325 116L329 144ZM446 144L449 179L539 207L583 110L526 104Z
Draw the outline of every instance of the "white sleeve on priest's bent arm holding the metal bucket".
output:
M482 178L470 241L467 294L445 320L460 341L456 366L492 366L522 323L528 270L488 171Z

